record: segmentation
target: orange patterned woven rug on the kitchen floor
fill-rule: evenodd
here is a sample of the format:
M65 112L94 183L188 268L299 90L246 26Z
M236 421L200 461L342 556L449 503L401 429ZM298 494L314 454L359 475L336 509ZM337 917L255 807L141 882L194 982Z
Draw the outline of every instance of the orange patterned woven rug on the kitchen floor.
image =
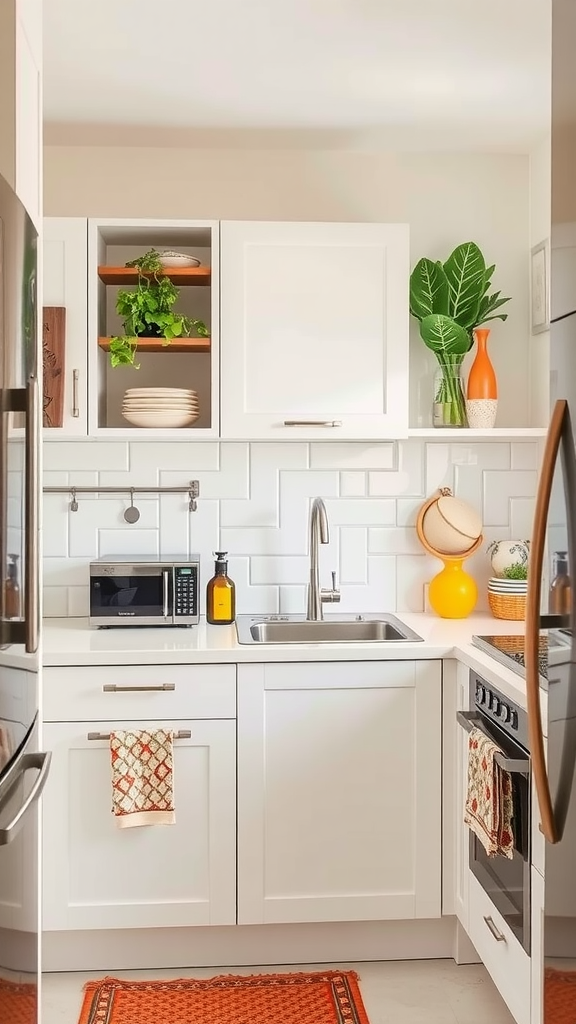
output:
M78 1024L369 1024L354 971L89 982Z

